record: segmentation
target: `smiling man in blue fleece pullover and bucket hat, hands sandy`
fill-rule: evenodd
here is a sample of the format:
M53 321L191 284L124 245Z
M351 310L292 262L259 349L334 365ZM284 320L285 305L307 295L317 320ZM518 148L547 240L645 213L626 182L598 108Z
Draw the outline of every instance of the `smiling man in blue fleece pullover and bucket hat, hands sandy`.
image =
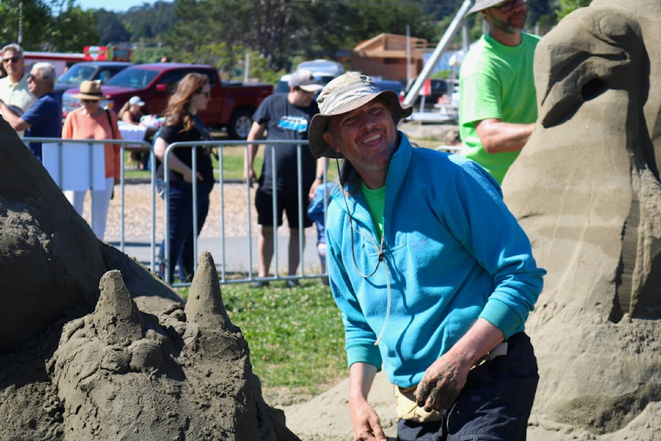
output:
M344 158L326 236L355 439L386 440L367 400L383 367L399 440L525 440L538 374L523 330L545 271L499 185L412 148L397 130L411 107L368 76L339 76L317 103L311 151Z

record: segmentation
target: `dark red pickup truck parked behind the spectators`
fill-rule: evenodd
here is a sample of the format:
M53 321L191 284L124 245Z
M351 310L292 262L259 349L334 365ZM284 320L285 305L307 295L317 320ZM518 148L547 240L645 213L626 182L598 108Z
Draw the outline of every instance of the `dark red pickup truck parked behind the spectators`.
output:
M231 139L246 139L251 117L262 100L273 93L273 85L264 83L244 84L237 81L221 81L218 71L209 65L183 63L151 63L130 66L101 86L101 92L109 99L101 105L119 110L134 95L145 101L145 114L161 115L167 100L177 88L177 83L189 72L209 76L211 100L200 118L209 128L227 129ZM80 99L74 98L79 90L69 89L62 96L63 116L80 107Z

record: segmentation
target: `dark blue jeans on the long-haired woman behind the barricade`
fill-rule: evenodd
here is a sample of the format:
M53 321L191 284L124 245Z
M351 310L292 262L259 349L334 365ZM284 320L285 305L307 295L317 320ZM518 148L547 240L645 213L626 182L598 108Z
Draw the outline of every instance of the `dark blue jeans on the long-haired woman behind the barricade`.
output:
M213 184L198 182L198 231L193 234L193 185L185 181L171 181L169 188L169 274L171 283L174 267L179 266L179 279L193 275L193 243L202 231L204 220L209 214L209 193ZM165 240L160 244L160 256L165 256ZM165 276L165 268L160 269Z

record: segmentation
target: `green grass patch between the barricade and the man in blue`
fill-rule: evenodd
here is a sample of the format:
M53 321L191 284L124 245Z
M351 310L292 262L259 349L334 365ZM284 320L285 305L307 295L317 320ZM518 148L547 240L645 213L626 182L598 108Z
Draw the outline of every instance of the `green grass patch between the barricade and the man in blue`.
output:
M295 289L271 286L222 288L227 314L250 347L253 371L265 388L321 393L348 375L344 327L330 289L317 279Z

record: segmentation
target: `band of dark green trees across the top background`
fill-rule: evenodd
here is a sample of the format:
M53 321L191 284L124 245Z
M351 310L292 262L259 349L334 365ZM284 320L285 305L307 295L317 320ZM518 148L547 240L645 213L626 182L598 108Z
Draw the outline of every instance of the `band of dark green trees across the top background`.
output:
M17 41L20 0L0 2L0 39ZM26 50L80 52L85 45L129 45L134 61L216 66L225 78L277 78L305 59L345 56L385 32L436 43L464 0L174 0L126 12L83 11L78 0L23 0ZM543 34L589 0L527 0L528 28ZM323 24L319 24L323 23ZM470 40L484 32L481 14L468 17ZM461 34L456 45L461 45ZM269 73L266 73L269 72Z

